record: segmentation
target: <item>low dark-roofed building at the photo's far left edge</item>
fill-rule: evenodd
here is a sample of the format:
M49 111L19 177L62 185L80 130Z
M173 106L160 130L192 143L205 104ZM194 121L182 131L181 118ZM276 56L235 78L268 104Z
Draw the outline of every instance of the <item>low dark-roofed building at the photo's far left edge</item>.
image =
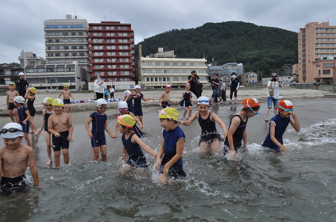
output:
M20 72L24 72L24 68L10 64L0 64L0 87L8 87L9 82L18 80Z

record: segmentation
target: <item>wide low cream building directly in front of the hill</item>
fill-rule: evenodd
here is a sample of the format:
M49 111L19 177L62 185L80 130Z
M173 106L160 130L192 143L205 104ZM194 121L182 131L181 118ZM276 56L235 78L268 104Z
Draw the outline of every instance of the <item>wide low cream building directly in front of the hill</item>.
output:
M139 64L139 84L144 88L164 88L167 84L172 87L184 88L188 75L195 70L202 84L207 84L207 59L176 58L174 51L163 52L159 48L157 54L141 57Z

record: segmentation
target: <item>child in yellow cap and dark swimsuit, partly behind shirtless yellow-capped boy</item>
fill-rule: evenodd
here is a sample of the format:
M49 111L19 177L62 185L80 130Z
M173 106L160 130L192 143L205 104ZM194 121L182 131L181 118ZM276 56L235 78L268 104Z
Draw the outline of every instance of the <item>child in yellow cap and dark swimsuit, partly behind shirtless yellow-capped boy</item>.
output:
M54 113L54 110L52 109L52 98L50 97L45 97L43 98L42 104L44 105L45 110L42 110L42 125L40 130L38 131L38 135L42 132L44 128L44 138L45 138L45 143L47 144L47 154L48 154L48 162L45 163L45 165L50 165L52 162L51 158L51 133L48 131L48 119L49 117Z

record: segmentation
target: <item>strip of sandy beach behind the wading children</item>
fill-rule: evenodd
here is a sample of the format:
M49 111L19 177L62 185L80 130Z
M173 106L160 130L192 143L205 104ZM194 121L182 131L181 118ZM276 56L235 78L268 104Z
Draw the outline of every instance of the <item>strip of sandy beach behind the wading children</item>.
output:
M161 96L163 89L153 90L153 91L143 91L145 98L154 97L155 101L146 101L143 102L143 107L150 106L159 106L158 98ZM230 91L228 91L230 93ZM182 96L182 90L174 90L170 93L170 99L179 105L179 101L181 101L180 97ZM211 97L212 91L210 89L206 89L203 91L202 96ZM314 89L294 89L290 87L283 87L280 89L280 96L282 99L288 100L302 100L302 99L311 99L311 98L324 98L325 95L330 94L328 91L320 91ZM43 105L41 104L43 98L51 97L52 99L57 98L59 95L59 91L38 91L36 94L36 101L34 102L34 107L36 108L37 113L41 113L43 110ZM75 101L82 101L87 99L93 99L94 93L72 93ZM194 96L194 101L196 103L196 97ZM227 94L228 96L228 94ZM238 101L241 102L244 98L253 97L257 98L260 102L267 101L267 88L241 88L238 91ZM123 99L123 91L116 92L115 98ZM229 101L229 100L228 100ZM228 105L228 101L226 104ZM118 102L109 103L109 107L117 108ZM174 105L173 105L174 107ZM95 110L95 105L92 103L73 103L71 104L71 112L83 112ZM6 105L6 96L0 96L0 115L7 116L8 110Z

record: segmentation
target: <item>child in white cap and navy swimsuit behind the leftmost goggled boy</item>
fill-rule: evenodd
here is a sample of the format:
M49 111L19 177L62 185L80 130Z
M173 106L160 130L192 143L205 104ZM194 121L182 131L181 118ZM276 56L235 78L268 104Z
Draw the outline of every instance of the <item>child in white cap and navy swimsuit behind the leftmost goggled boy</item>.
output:
M27 107L23 104L25 104L25 98L23 98L22 96L15 96L14 98L14 105L18 108L18 117L19 117L19 124L22 126L22 131L24 133L24 137L27 141L27 145L30 147L31 146L31 142L29 139L29 118L30 118L30 114L29 114L29 110L27 109Z

